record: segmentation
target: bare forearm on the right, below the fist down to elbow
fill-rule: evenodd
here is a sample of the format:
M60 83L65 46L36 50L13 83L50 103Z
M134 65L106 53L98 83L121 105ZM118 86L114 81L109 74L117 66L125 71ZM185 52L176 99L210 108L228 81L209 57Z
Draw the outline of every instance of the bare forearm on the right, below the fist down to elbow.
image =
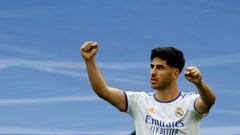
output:
M215 103L216 100L215 94L203 80L195 85L199 91L202 102L205 104L207 108L210 109L210 107Z

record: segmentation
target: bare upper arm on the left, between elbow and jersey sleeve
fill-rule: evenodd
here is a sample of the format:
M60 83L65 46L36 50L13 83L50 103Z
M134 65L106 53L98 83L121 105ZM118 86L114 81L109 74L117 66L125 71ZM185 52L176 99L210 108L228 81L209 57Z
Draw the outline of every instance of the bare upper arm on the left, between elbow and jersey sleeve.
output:
M118 88L107 87L107 92L103 97L104 100L111 103L113 106L118 108L120 111L126 111L126 96L124 91Z

